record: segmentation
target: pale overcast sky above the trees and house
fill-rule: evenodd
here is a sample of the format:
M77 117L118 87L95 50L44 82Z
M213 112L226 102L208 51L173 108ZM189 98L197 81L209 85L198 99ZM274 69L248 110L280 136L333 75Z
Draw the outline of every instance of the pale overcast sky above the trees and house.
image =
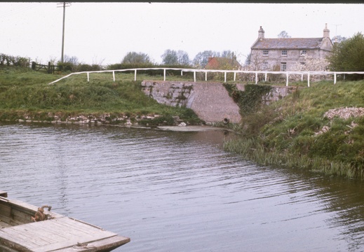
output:
M59 3L0 3L0 53L46 64L60 60L63 8ZM70 3L65 55L85 64L119 63L144 52L156 63L167 49L231 50L241 63L262 26L266 38L364 34L364 5L344 3Z

